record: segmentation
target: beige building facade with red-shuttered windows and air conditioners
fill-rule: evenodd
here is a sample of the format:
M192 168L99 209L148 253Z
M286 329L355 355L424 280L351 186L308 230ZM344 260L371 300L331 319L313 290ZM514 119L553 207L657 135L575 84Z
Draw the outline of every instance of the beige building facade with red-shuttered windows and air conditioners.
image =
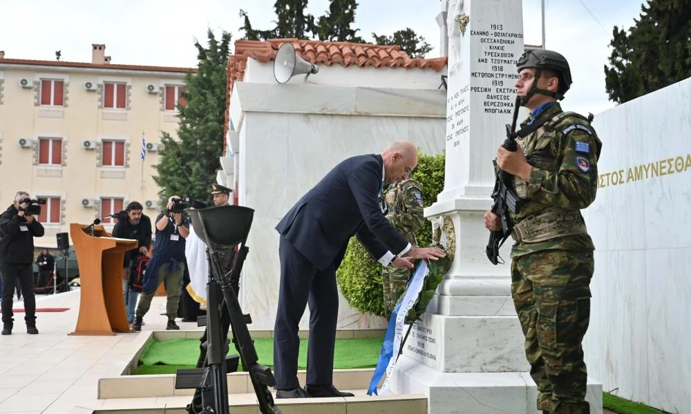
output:
M130 201L149 216L160 210L160 135L176 137L177 103L193 69L112 64L104 45L92 47L91 63L0 52L0 206L19 190L45 199L46 235L35 239L43 246L55 246L70 223L89 224Z

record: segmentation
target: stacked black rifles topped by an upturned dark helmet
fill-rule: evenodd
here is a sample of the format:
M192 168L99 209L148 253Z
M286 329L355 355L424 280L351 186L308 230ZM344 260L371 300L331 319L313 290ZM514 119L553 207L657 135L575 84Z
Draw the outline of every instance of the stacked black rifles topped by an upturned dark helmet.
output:
M220 206L186 210L194 233L207 245L209 284L207 284L206 331L200 342L197 368L178 370L176 388L195 388L189 414L229 413L227 373L238 369L238 355L226 357L228 332L247 371L263 414L280 414L274 406L269 388L276 384L271 369L258 364L254 342L249 335L249 315L243 315L238 302L240 270L249 248L245 246L254 210L239 206ZM229 271L223 266L224 256L238 247Z

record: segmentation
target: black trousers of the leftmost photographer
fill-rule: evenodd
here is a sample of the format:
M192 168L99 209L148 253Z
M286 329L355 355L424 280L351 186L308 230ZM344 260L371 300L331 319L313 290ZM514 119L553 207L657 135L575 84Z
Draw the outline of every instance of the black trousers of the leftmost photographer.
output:
M12 299L15 294L17 280L21 284L24 295L24 320L27 326L36 325L36 298L34 297L34 275L32 264L0 263L2 274L2 322L12 325Z

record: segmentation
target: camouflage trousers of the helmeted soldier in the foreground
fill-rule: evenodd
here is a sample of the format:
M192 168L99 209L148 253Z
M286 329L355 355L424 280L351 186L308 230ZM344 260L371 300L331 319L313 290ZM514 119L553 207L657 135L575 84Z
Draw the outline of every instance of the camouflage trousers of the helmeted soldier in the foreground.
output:
M538 411L589 414L583 335L590 320L592 252L542 250L511 264L511 294L525 335Z

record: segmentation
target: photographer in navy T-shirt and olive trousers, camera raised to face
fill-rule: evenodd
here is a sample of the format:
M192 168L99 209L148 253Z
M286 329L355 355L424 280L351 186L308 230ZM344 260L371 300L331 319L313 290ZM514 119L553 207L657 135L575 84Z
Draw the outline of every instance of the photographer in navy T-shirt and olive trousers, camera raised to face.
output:
M168 199L164 213L156 217L156 233L153 240L153 255L146 268L142 296L137 305L137 313L132 324L135 331L142 330L142 319L151 307L151 299L156 288L164 283L168 316L167 330L178 330L175 323L182 292L182 274L184 273L184 239L189 235L189 221L182 216L186 208L182 199L173 195Z

